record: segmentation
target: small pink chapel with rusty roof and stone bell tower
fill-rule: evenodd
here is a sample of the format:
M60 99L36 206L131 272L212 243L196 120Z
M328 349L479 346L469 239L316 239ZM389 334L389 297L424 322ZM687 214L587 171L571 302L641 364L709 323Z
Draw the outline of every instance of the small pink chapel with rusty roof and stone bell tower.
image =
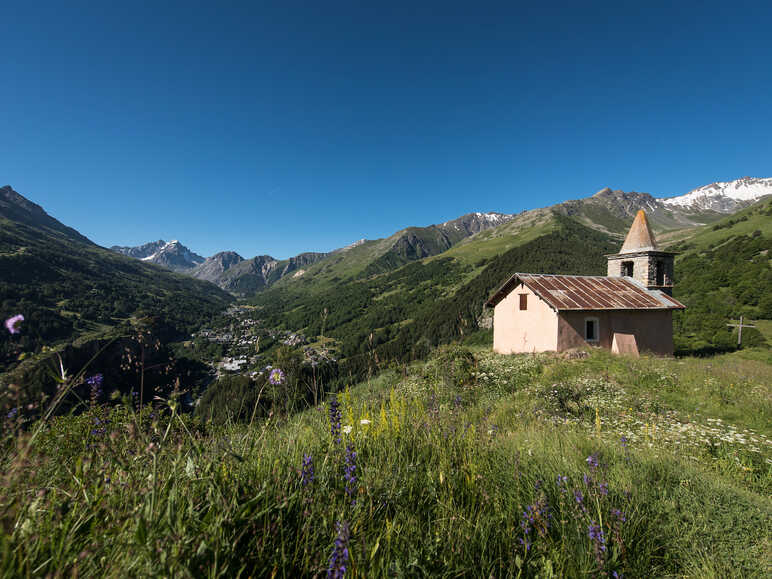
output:
M616 353L673 354L675 254L657 247L639 211L607 276L516 273L486 302L501 354L599 346Z

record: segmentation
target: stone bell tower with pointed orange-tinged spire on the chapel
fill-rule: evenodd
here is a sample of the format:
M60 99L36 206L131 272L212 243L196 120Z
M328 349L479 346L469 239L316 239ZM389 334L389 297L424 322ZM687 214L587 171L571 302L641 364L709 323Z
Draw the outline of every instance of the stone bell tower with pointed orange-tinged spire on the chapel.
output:
M647 289L673 294L673 262L676 254L661 251L649 227L646 213L638 211L619 253L607 255L609 277L631 277Z

